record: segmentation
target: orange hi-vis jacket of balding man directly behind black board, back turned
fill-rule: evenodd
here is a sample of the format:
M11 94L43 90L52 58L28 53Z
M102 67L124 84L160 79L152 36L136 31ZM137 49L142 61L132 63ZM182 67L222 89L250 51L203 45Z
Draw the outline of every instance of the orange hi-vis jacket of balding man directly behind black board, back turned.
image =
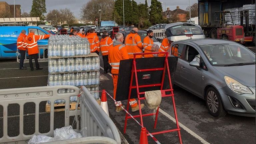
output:
M140 36L131 31L125 38L125 47L130 59L133 59L134 53L142 53L142 43ZM142 55L137 55L136 58L142 58Z

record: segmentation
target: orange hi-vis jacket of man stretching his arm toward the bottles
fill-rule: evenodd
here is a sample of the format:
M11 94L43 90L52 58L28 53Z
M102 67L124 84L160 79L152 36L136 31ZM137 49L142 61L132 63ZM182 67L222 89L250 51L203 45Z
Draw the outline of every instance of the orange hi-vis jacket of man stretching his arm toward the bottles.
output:
M37 54L38 51L38 46L37 46L37 41L41 39L47 39L49 38L50 35L35 35L34 33L29 33L26 40L27 40L27 48L28 48L28 54Z

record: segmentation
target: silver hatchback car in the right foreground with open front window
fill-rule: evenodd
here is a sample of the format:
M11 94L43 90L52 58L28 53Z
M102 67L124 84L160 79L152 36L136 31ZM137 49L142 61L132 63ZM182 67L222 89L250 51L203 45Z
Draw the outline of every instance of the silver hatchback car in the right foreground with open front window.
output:
M173 42L171 55L179 57L175 84L204 99L210 114L255 117L255 53L232 41L190 39Z

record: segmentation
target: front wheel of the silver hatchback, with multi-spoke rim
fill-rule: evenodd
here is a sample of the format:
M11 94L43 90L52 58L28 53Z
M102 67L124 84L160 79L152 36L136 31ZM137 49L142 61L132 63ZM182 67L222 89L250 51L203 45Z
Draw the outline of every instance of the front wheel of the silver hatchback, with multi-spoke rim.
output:
M215 88L209 87L207 89L205 102L208 111L214 117L223 117L227 114L221 101L220 95Z

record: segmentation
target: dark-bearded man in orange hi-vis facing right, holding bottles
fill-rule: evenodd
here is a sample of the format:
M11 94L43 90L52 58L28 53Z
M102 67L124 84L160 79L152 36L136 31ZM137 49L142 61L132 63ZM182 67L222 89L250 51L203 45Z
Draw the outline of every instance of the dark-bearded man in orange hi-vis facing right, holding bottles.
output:
M154 41L153 41L154 32L152 30L147 31L147 36L143 39L143 48L144 53L151 53L155 52L156 50L152 48ZM152 54L144 55L144 57L153 57Z

